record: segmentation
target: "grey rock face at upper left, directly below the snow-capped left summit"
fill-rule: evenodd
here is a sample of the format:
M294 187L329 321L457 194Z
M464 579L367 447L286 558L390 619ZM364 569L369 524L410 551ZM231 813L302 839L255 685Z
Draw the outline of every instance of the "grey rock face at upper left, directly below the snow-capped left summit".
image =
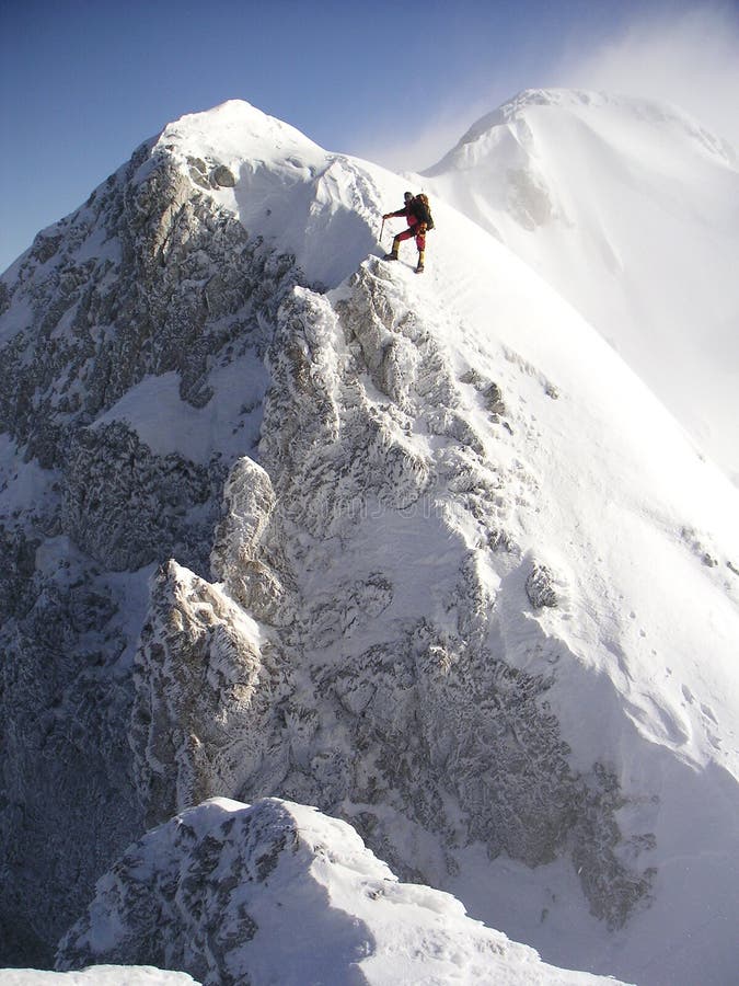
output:
M158 148L131 161L54 234L39 233L7 289L25 325L0 351L0 423L45 468L65 460L70 431L111 408L147 374L181 377L205 405L208 358L227 343L264 347L299 279L218 209Z

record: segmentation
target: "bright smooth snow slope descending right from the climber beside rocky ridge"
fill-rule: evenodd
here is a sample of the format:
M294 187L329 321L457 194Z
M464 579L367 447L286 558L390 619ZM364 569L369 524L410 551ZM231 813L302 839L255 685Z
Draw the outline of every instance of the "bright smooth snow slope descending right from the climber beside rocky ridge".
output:
M519 912L506 892L492 905L489 885L500 875L531 886L531 875L499 860L473 913L558 964L640 983L728 982L739 904L736 490L590 326L505 250L441 217L431 277L407 285L408 305L443 312L450 358L474 354L475 369L499 383L513 435L487 431L484 458L520 477L510 504L520 551L555 573L559 596L555 609L509 607L527 565L490 573L507 660L552 673L547 700L575 763L613 766L633 799L619 823L634 845L654 834L646 857L657 870L655 903L610 941L571 899L563 906L568 878L556 868L544 868ZM472 859L452 883L467 905L465 878L478 883L478 867ZM685 943L698 927L715 938L693 952Z

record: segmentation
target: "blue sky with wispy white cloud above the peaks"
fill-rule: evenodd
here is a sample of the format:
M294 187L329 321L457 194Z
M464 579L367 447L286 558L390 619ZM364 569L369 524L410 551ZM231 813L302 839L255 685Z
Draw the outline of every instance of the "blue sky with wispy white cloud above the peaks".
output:
M736 138L738 39L737 0L0 0L0 271L142 140L228 99L396 170L546 85L677 93Z

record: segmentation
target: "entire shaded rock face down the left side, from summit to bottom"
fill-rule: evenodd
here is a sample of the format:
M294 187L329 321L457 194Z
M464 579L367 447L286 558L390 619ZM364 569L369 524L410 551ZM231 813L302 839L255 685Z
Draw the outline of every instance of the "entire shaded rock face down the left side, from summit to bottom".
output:
M127 733L142 612L129 593L149 573L106 573L176 555L208 576L229 468L217 448L190 461L97 420L168 371L184 405L204 408L209 369L259 359L300 277L147 145L2 284L0 431L38 495L0 517L0 963L48 961L140 832Z

